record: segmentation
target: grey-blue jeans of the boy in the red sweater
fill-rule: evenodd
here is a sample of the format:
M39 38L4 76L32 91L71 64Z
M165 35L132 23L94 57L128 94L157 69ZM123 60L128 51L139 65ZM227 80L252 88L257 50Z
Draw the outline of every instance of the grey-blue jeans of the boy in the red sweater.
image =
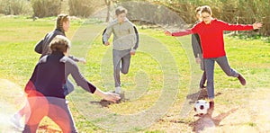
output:
M214 98L214 65L215 62L221 67L223 72L228 76L238 77L238 72L229 67L229 62L226 56L220 58L204 58L205 72L207 79L207 94L209 99Z

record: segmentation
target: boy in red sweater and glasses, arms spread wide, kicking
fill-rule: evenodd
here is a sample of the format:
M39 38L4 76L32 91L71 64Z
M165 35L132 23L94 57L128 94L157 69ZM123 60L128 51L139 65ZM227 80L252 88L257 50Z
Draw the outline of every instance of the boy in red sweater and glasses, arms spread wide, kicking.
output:
M242 85L246 84L243 75L229 67L229 62L224 49L223 31L248 31L259 29L262 24L256 22L254 24L229 24L211 17L211 8L204 5L201 8L202 22L198 22L193 28L184 31L165 31L168 36L184 36L197 33L200 36L202 44L202 57L205 63L205 72L207 79L207 93L210 100L209 114L214 110L214 64L215 62L221 67L226 75L237 77Z

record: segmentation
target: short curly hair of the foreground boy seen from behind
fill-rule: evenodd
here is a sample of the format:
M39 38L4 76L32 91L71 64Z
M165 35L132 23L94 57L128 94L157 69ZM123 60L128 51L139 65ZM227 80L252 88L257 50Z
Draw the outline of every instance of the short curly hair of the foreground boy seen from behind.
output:
M67 37L62 35L57 35L53 40L49 43L49 48L51 51L59 51L59 52L67 52L67 49L70 48L71 43L67 39Z

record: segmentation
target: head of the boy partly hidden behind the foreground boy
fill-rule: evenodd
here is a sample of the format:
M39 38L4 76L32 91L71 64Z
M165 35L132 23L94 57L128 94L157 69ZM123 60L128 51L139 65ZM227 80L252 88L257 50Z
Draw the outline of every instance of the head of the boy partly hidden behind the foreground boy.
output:
M58 14L56 28L60 31L63 31L63 32L68 31L69 26L70 26L69 20L70 20L70 18L67 14L65 14L65 13Z

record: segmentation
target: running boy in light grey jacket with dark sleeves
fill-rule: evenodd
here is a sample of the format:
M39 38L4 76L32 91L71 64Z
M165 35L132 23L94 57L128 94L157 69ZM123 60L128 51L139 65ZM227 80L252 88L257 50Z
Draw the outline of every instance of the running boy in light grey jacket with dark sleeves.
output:
M103 44L109 46L108 41L113 34L112 62L115 93L121 93L120 72L128 74L130 58L135 55L139 45L138 31L135 25L126 18L127 10L119 6L115 10L116 19L109 23L103 32Z

